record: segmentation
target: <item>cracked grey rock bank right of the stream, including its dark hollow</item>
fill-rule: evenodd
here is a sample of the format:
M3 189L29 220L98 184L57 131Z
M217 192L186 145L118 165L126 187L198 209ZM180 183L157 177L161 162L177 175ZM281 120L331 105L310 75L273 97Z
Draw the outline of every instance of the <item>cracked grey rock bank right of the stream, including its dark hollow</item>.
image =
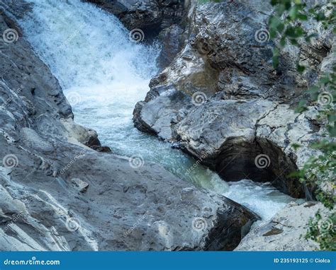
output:
M198 6L184 49L152 79L133 120L141 131L172 141L224 180L272 182L281 192L313 199L314 187L303 186L289 174L318 154L310 143L326 138L317 117L323 104L310 102L308 111L294 110L301 98L308 98L307 86L335 61L335 38L322 25L305 23L318 38L301 50L289 46L274 69L275 43L266 30L270 13L271 6L259 0ZM304 74L296 71L297 59L310 66ZM302 147L295 150L294 143ZM305 216L305 207L293 209ZM277 220L289 220L285 212ZM275 223L264 225L263 233ZM314 249L300 237L301 225L277 230L275 238L286 238L286 244L254 232L239 249ZM294 238L295 246L290 244ZM258 239L264 241L259 247Z

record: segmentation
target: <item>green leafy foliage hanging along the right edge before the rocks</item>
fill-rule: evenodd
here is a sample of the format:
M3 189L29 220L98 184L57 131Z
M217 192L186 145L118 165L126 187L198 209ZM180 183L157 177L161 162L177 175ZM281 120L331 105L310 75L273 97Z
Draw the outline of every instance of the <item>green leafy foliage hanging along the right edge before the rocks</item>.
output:
M279 39L273 51L274 68L279 65L281 49L287 45L293 45L301 49L305 42L312 42L318 33L308 33L303 28L305 21L315 21L323 25L325 30L332 30L336 33L336 1L327 1L326 4L316 4L308 7L306 2L301 0L270 0L274 6L274 13L269 18L269 35L272 39ZM303 169L297 172L302 182L308 187L315 187L315 196L328 209L334 209L335 179L336 179L336 143L332 138L336 136L336 64L332 63L332 71L323 74L318 78L314 86L308 89L311 100L301 100L296 109L297 112L304 112L308 105L318 104L318 120L328 134L323 141L312 144L313 148L321 153L311 157ZM303 73L308 67L303 66L299 61L296 63L298 72ZM293 145L293 147L299 147ZM316 213L315 219L310 219L309 230L306 238L319 243L321 250L335 250L335 211L327 218L332 221L330 230L321 230L318 224L321 223L320 213Z

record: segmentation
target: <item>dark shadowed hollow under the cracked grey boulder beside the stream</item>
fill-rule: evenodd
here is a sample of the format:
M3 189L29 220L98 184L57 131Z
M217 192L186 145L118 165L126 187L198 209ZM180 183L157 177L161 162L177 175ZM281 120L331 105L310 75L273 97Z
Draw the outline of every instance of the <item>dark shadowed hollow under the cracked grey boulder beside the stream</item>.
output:
M291 176L298 170L294 158L267 139L251 142L233 138L225 143L212 167L226 181L249 179L271 182L284 194L294 198L311 198L311 192Z

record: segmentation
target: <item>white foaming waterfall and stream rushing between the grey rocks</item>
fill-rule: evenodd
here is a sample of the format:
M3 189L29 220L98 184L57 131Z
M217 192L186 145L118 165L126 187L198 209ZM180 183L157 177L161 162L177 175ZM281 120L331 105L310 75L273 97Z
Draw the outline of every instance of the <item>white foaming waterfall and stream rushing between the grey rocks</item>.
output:
M133 127L132 112L157 72L159 48L135 44L115 16L92 4L28 2L34 4L33 11L20 22L27 39L60 81L76 122L95 129L113 153L160 163L184 180L249 207L264 221L293 201L270 184L224 182L201 165L186 175L194 159Z

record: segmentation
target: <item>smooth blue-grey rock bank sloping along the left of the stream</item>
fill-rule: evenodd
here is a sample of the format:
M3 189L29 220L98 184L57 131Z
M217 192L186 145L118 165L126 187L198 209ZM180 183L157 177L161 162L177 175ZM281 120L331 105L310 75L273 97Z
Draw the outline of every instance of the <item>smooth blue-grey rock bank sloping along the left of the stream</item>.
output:
M89 148L95 131L74 123L11 17L29 5L0 11L0 250L233 250L258 217L159 165Z

